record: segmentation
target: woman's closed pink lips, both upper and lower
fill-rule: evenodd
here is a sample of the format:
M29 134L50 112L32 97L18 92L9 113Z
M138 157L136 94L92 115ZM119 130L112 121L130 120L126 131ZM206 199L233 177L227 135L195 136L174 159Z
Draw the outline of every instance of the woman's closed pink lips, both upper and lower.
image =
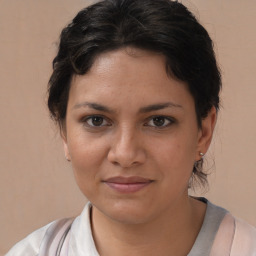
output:
M147 178L133 177L112 177L106 179L104 183L111 189L119 193L135 193L150 185L153 181Z

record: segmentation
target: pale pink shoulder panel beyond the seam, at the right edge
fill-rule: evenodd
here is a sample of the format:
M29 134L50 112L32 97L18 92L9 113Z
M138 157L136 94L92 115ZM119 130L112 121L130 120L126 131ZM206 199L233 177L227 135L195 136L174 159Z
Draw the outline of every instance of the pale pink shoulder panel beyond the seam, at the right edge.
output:
M231 255L256 256L256 228L243 220L234 218L235 232ZM246 254L245 254L246 253Z

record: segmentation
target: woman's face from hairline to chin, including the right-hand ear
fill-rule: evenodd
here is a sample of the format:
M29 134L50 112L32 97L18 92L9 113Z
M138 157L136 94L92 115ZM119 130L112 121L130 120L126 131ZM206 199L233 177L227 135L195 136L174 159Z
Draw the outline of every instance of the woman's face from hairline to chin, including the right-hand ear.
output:
M198 128L193 97L166 74L163 56L121 49L73 77L64 149L97 210L141 223L187 200L194 162L206 152L214 122L211 111Z

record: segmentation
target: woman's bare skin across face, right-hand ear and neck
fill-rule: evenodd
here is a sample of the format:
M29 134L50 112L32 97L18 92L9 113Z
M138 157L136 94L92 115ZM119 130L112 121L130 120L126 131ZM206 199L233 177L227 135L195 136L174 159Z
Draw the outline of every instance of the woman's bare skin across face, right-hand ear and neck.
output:
M189 253L206 206L188 196L188 183L215 121L212 108L198 127L187 85L167 75L156 53L103 53L86 75L73 77L64 151L93 205L100 255ZM116 177L146 182L136 191L120 190Z

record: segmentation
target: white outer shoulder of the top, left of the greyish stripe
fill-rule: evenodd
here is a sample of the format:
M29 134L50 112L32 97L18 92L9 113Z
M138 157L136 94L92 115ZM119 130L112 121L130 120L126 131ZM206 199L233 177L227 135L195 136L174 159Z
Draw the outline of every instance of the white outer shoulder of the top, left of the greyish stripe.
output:
M36 256L39 252L40 244L47 229L54 222L51 222L46 226L34 231L26 238L15 244L5 256Z

